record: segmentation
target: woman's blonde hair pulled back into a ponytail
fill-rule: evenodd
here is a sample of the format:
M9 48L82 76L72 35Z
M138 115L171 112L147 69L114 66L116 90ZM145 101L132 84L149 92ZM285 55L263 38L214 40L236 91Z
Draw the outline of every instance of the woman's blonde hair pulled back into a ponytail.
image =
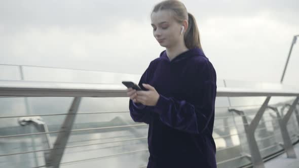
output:
M180 24L183 22L183 20L188 20L189 26L184 34L185 45L188 49L202 48L195 18L192 14L187 12L187 9L183 3L176 0L163 1L155 5L153 12L158 12L161 10L170 10L174 19Z

